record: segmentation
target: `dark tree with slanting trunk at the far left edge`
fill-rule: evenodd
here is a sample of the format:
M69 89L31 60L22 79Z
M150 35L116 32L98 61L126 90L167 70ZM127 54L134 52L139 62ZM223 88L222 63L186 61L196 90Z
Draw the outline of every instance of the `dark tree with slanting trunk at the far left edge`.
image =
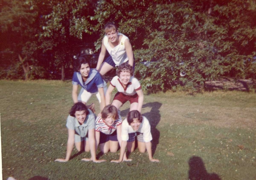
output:
M4 42L1 46L1 51L4 52L2 53L2 62L4 61L2 64L5 65L5 68L10 65L15 66L15 64L21 65L27 80L34 53L30 50L33 48L33 42L36 41L37 30L34 24L37 12L26 0L3 0L1 7L1 39ZM16 67L18 67L17 65Z

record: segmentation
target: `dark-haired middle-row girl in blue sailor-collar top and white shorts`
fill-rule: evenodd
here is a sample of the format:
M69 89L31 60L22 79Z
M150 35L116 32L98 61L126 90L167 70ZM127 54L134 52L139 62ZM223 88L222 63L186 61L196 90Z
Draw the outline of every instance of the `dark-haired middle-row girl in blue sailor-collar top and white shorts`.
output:
M102 110L105 107L104 87L106 87L106 82L102 79L100 73L96 69L90 69L86 56L78 57L75 63L75 70L72 79L72 99L74 103L82 101L82 103L86 104L90 97L95 94ZM82 87L79 95L78 85Z

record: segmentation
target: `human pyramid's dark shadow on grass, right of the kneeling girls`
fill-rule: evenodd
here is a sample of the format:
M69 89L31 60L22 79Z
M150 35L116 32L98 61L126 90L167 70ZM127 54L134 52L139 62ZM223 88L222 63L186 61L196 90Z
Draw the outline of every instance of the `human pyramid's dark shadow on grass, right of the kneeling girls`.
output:
M152 134L152 155L154 155L156 151L156 146L159 143L159 137L160 137L160 132L156 129L156 126L158 125L161 116L160 116L160 107L162 106L162 103L159 102L152 102L152 103L146 103L142 105L142 108L146 107L151 107L150 112L143 113L142 116L145 116L151 127L151 134ZM129 113L130 109L125 109L121 111L121 116L126 117L127 114Z

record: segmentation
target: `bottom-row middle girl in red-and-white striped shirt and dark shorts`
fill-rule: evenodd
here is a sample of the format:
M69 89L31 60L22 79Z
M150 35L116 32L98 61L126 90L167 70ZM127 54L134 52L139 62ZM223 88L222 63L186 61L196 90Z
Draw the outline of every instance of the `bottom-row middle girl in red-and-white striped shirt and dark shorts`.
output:
M118 115L116 107L112 105L104 107L101 117L96 119L96 149L100 144L101 152L116 152L118 144L121 146L121 124L122 117ZM127 161L126 155L124 161Z

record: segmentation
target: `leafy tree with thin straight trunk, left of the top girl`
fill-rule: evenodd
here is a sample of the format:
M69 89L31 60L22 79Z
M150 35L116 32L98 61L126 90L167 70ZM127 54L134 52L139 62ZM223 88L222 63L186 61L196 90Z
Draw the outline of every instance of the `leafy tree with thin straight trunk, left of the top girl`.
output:
M41 47L54 52L54 64L62 70L72 64L72 55L77 53L78 44L92 41L96 31L91 25L90 16L94 14L94 1L91 0L49 0L52 10L44 15L44 32L41 34Z

